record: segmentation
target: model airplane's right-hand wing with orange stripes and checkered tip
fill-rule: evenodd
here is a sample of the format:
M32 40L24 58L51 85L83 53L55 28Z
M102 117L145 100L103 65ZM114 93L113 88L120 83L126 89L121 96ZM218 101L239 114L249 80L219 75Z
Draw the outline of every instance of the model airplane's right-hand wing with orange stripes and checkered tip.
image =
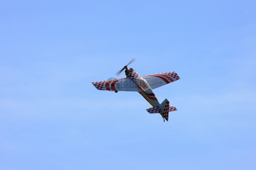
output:
M180 79L176 72L150 74L141 77L149 83L152 89L158 88L160 86L166 85L170 82L174 82Z

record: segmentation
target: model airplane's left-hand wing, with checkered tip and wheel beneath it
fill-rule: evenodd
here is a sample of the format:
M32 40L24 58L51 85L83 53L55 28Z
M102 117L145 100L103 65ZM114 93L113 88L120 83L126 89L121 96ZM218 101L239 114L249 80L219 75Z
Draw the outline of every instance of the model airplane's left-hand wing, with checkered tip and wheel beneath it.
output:
M92 82L98 90L109 91L141 91L130 78L122 78L115 80L104 80L99 82Z

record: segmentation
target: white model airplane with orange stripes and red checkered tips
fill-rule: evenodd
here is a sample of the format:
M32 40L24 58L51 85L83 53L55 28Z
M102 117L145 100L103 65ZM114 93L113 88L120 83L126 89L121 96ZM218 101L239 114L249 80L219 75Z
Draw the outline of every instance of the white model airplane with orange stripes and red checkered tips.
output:
M169 112L177 109L175 106L169 106L167 98L160 104L152 89L179 80L179 76L176 72L140 76L138 72L134 72L132 68L127 68L134 60L135 59L132 59L117 73L120 74L125 69L126 78L92 82L93 85L98 90L115 91L115 93L118 91L137 91L153 106L146 109L149 113L160 113L163 117L163 121L168 121Z

